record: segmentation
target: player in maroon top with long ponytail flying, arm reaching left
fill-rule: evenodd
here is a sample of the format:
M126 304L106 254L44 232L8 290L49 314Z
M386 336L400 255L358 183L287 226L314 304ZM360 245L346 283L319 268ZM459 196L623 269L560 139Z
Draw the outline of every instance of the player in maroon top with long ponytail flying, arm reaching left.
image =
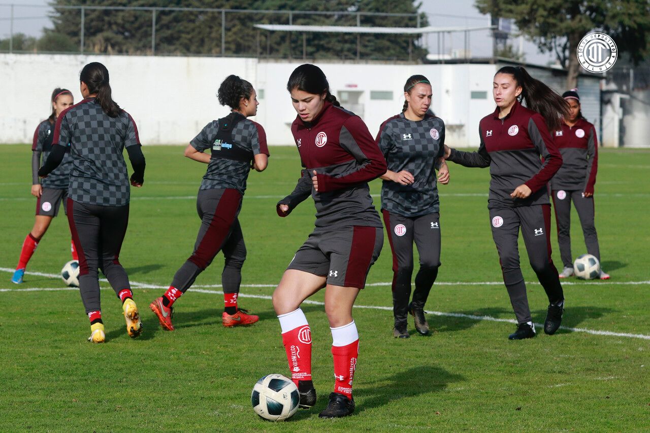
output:
M465 167L490 167L487 208L492 237L518 323L508 338L535 336L519 267L520 227L530 266L549 297L544 332L552 335L562 323L564 293L551 260L551 204L546 184L562 165L562 155L549 130L560 128L568 106L560 95L520 67L499 69L492 93L497 108L479 123L478 151L461 152L445 145L445 158Z

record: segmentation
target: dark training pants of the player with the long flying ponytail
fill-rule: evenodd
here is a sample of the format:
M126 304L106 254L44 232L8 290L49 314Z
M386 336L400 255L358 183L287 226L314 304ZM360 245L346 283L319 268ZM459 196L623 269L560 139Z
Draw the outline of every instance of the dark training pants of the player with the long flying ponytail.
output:
M519 228L524 238L530 266L537 274L541 286L549 297L549 303L564 299L560 277L551 259L551 205L506 207L490 204L492 238L499 251L503 282L510 295L518 323L532 321L526 283L519 267Z

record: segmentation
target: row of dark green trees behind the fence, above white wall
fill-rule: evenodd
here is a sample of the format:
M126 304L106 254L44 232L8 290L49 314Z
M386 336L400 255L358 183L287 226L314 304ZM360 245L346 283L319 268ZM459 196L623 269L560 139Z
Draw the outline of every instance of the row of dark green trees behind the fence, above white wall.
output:
M51 16L53 31L81 43L81 12L79 9L57 9L57 6L79 5L79 0L54 0ZM410 0L252 0L242 4L236 0L85 0L85 6L155 6L182 8L226 8L248 10L294 11L291 22L296 25L357 25L356 14L304 14L295 11L319 12L394 12L419 13L421 3ZM258 31L257 23L288 24L289 14L265 12L227 12L226 40L222 53L221 12L193 10L157 10L155 13L155 51L164 54L235 55L272 57L302 57L303 42L309 58L354 58L357 54L355 34ZM427 25L421 14L421 25ZM151 10L85 9L84 47L94 53L151 53ZM365 26L414 27L411 16L361 16ZM305 38L305 41L303 40ZM426 50L419 45L417 35L359 36L363 58L406 60L421 58Z

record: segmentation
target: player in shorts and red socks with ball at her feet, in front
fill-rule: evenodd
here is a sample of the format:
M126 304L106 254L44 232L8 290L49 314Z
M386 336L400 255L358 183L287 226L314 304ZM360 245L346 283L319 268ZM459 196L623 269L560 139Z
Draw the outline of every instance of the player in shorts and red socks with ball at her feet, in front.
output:
M316 402L311 381L311 329L300 309L321 288L330 321L334 392L322 418L354 412L352 378L359 334L352 305L382 249L382 222L372 204L368 182L386 172L386 163L361 118L343 110L317 66L298 66L287 83L298 116L291 132L304 170L294 191L279 201L285 217L309 195L316 205L314 231L298 249L273 293L291 377L300 406Z

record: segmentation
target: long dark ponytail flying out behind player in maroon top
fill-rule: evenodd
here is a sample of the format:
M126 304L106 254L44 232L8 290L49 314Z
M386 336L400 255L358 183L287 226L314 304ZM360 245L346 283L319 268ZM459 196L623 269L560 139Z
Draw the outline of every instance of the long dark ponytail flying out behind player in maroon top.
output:
M549 130L562 128L562 119L569 114L569 104L564 98L543 82L531 77L521 66L504 66L497 71L497 74L500 73L514 77L517 86L521 86L521 95L517 99L525 101L530 110L541 114Z

